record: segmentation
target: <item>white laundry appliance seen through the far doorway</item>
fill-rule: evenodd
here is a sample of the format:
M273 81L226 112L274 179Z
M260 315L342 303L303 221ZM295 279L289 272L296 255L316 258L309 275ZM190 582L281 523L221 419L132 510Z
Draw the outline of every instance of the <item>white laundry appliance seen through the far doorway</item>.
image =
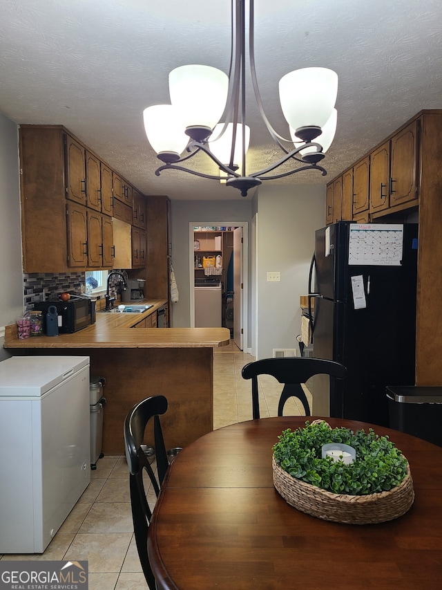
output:
M195 279L195 328L222 327L221 281Z

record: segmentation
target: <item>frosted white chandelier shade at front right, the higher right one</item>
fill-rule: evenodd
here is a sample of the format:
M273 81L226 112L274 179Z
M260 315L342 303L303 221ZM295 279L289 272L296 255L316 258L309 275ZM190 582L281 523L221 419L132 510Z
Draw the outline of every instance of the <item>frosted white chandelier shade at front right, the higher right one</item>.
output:
M282 113L292 129L324 127L332 115L337 95L338 75L327 68L302 68L289 72L279 81ZM296 135L304 139L302 133Z

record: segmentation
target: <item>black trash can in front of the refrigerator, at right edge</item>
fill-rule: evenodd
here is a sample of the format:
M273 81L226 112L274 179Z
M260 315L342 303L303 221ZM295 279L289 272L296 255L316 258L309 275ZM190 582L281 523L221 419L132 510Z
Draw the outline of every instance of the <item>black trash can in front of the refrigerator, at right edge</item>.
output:
M390 428L442 447L442 387L387 385Z

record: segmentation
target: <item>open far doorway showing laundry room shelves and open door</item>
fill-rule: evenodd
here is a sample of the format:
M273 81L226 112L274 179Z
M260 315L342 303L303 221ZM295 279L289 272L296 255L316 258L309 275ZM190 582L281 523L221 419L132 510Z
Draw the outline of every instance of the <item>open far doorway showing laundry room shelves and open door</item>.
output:
M195 243L195 240L200 243ZM248 259L247 221L189 223L191 326L201 325L198 324L200 316L195 313L195 282L200 286L206 283L215 286L219 280L222 291L221 313L213 316L213 321L215 326L231 330L231 338L240 350L247 349ZM198 292L198 300L200 295ZM220 320L217 320L217 317L220 317Z

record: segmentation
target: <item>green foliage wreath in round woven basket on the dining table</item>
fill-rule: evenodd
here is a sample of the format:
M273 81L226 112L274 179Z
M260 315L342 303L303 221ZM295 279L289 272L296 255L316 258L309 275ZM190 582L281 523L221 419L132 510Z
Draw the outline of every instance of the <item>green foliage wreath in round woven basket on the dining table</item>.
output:
M356 451L354 462L322 457L323 445ZM407 512L414 490L407 459L374 430L330 428L325 421L284 430L273 446L273 483L291 506L335 522L374 524Z

